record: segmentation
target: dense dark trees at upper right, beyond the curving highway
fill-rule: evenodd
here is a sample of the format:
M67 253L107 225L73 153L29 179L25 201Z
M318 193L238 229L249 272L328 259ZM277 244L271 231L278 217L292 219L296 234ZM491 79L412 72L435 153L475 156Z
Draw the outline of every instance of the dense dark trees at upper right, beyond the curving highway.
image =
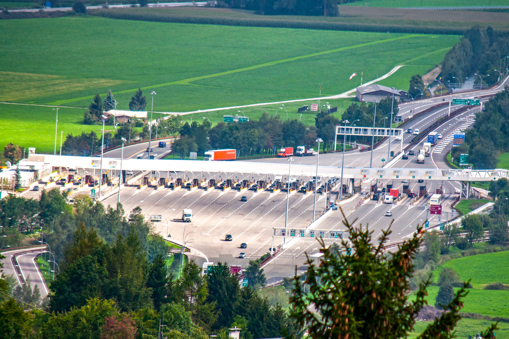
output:
M460 43L445 54L442 63L444 81L458 82L465 77L474 76L475 82L480 81L474 74L487 75L484 83L493 84L499 72L505 70L500 66L500 59L509 52L509 35L492 27L473 27L468 29ZM503 65L503 61L502 61ZM507 63L505 63L507 67ZM502 68L502 70L500 69ZM496 70L496 71L495 71Z

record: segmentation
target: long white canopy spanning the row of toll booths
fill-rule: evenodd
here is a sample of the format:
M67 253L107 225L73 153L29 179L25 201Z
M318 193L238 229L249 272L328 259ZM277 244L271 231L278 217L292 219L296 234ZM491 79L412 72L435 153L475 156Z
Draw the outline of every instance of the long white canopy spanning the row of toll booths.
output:
M122 165L121 165L122 163ZM300 164L275 164L252 161L198 161L198 160L148 160L148 159L121 159L30 155L29 159L22 160L22 165L34 166L45 164L53 168L64 167L71 169L102 168L103 174L111 171L157 171L157 172L190 172L193 177L197 173L256 173L272 175L307 176L317 174L317 166ZM318 175L322 177L341 177L341 167L318 166ZM449 181L494 181L499 178L508 178L509 170L441 170L436 168L359 168L345 167L343 177L346 179L431 179Z

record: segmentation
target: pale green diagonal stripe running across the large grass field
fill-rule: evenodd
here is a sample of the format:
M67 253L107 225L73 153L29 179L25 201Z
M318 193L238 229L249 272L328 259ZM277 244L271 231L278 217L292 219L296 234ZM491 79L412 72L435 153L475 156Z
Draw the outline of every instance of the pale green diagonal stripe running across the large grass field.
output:
M326 51L305 54L305 55L299 55L299 56L294 56L294 57L286 58L286 59L269 61L268 63L239 68L236 70L224 71L224 72L208 74L208 75L202 75L199 77L193 77L193 78L177 80L177 81L172 81L172 82L165 82L165 83L145 86L145 87L141 87L141 88L143 90L146 90L146 89L154 89L154 88L158 88L158 87L171 86L171 85L190 85L190 82L192 82L192 81L210 79L210 78L220 77L223 75L230 75L230 74L235 74L235 73L240 73L240 72L252 71L252 70L256 70L256 69L263 68L263 67L269 67L269 66L279 65L279 64L283 64L283 63L289 63L291 61L306 59L306 58L310 58L310 57L314 57L314 56L326 55L326 54L330 54L330 53L337 53L337 52L354 49L354 48L360 48L360 47L365 47L365 46L381 44L381 43L385 43L385 42L392 42L392 41L397 41L397 40L402 40L402 39L411 39L411 38L418 38L418 37L429 37L429 36L423 35L423 34L409 34L409 35L405 35L405 36L401 36L401 37L383 39L383 40L378 40L378 41L371 41L371 42L366 42L366 43L362 43L362 44L358 44L358 45L345 46L345 47L340 47L340 48L334 48L334 49L330 49L330 50L326 50ZM411 60L409 60L409 61L411 61ZM132 92L135 92L136 90L137 90L137 88L125 89L125 90L121 90L121 91L115 91L114 94L132 93ZM106 95L105 93L101 94L101 96L105 96L105 95ZM92 98L94 98L94 96L58 100L58 101L50 102L50 103L48 103L48 105L62 105L62 104L68 104L68 103L76 102L76 101L80 101L80 100L92 99Z

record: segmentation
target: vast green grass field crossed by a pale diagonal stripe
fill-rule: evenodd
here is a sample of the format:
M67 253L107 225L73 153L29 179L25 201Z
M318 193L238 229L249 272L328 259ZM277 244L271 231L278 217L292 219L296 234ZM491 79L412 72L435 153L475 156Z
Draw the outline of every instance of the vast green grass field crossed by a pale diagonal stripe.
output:
M138 87L154 111L185 112L344 93L397 65L382 84L407 89L411 75L439 64L458 36L384 34L289 28L233 27L111 20L98 17L0 21L0 101L88 107L108 89L119 109ZM59 32L55 35L54 32ZM108 34L105 34L108 32ZM115 39L111 39L114 37ZM148 38L147 38L148 37ZM352 73L358 76L349 81ZM325 104L327 100L322 103ZM337 116L350 99L330 100ZM314 125L305 103L289 103L289 118ZM281 105L240 109L251 119ZM150 106L147 108L150 109ZM213 124L239 109L195 113ZM64 134L99 130L80 124L83 109L62 109ZM67 120L65 120L67 119ZM190 117L189 117L190 119ZM49 107L0 104L0 146L7 142L52 151ZM30 122L28 122L30 121ZM37 131L37 132L36 132Z

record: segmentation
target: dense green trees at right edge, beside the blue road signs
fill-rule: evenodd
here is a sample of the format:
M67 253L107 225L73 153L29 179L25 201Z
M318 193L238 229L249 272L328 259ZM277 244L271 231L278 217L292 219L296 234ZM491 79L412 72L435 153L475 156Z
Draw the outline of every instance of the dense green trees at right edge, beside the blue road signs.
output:
M459 160L468 153L469 163L476 169L493 169L500 153L509 152L509 88L496 94L485 105L482 113L475 114L471 129L465 131L465 144L452 149Z

